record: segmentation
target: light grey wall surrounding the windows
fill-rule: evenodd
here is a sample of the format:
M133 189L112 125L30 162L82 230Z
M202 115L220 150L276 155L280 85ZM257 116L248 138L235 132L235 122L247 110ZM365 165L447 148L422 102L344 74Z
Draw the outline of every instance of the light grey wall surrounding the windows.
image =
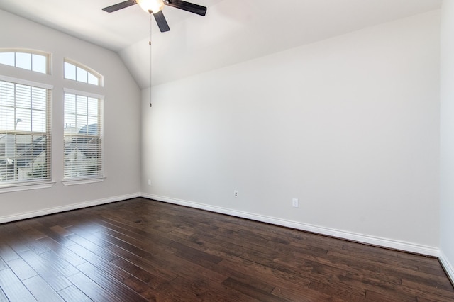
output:
M140 89L114 52L0 11L0 47L52 53L52 74L33 74L0 65L0 74L32 77L54 85L52 94L52 178L50 189L0 193L0 222L52 211L116 201L140 194ZM63 87L80 89L63 79L63 59L87 65L104 75L104 88L87 85L104 99L104 182L63 186Z

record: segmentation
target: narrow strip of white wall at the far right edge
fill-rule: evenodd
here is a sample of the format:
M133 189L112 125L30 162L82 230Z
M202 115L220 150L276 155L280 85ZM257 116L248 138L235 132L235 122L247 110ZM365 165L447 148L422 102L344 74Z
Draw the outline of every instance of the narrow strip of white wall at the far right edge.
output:
M454 1L441 15L441 261L454 282Z

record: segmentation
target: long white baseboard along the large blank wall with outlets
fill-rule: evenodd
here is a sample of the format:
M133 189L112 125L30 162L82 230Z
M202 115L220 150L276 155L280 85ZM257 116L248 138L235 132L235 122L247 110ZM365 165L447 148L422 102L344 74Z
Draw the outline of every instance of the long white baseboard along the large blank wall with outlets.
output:
M180 206L189 206L191 208L199 208L201 210L227 214L240 218L247 218L250 220L257 220L263 223L271 223L274 225L281 225L287 228L294 228L297 230L305 230L311 233L318 233L321 235L328 235L331 237L338 237L346 240L352 240L355 242L367 243L369 245L377 245L379 247L387 247L394 250L402 250L405 252L413 252L421 255L428 255L438 257L439 250L436 247L428 247L426 245L417 245L410 242L403 242L397 240L391 240L382 237L363 235L358 233L346 232L344 230L336 230L332 228L324 228L317 225L310 225L307 223L299 223L291 220L284 220L280 218L274 218L270 216L261 216L255 213L248 213L243 211L231 210L229 208L221 208L217 206L209 206L203 203L194 203L192 201L184 201L176 198L170 198L165 196L156 196L153 194L142 194L142 197L154 199L156 201L163 201L167 203L174 203Z

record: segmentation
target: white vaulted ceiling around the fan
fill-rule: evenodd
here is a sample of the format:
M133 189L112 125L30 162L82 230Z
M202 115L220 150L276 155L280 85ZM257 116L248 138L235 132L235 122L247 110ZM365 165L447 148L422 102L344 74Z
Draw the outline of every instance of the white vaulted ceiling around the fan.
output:
M150 86L149 16L123 0L0 0L0 9L118 52ZM441 7L441 0L187 0L206 16L165 6L170 32L153 21L153 85L314 43ZM277 4L277 5L276 5Z

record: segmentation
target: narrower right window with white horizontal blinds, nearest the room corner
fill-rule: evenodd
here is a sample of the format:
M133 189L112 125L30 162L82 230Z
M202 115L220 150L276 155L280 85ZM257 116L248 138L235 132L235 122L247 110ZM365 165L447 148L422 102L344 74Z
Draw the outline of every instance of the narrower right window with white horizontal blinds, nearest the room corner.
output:
M102 97L65 90L65 180L103 177Z

